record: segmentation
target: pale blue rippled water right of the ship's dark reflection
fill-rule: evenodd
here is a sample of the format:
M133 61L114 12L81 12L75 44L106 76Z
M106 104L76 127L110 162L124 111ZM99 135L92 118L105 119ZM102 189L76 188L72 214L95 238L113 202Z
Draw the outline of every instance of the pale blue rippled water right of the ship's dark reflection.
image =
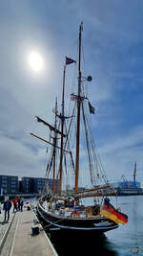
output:
M107 232L107 238L119 256L143 255L143 204L142 196L119 197L118 206L129 216L127 225L120 225L117 230Z

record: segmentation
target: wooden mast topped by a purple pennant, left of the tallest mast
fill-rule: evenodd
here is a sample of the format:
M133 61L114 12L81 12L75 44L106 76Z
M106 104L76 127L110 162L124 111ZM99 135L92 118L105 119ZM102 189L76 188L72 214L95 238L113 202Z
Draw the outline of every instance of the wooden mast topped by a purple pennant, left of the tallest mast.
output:
M60 166L59 166L59 195L62 191L62 173L63 173L63 132L64 132L64 105L65 105L65 76L66 76L66 65L64 65L63 74L63 93L62 93L62 113L61 113L61 151L60 151Z

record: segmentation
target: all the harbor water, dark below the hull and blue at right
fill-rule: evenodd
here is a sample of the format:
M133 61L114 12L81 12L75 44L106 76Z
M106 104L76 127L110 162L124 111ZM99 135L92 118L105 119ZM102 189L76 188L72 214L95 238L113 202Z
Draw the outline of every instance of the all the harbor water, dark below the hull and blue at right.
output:
M112 201L115 206L116 199ZM90 233L55 232L51 243L58 255L143 256L143 196L118 197L117 206L128 215L128 224L120 224L100 237Z

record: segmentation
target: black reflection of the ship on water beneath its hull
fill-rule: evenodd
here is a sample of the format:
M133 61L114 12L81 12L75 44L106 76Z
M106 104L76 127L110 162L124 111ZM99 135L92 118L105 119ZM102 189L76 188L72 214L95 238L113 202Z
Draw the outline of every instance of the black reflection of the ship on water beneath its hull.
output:
M55 234L56 233L56 234ZM112 243L106 235L95 236L94 233L65 233L63 231L51 234L51 243L59 256L69 255L105 255L118 256Z

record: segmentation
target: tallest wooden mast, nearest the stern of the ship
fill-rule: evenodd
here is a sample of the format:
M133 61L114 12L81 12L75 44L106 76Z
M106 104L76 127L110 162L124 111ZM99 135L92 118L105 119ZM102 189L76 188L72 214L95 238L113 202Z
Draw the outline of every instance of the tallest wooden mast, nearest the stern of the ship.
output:
M77 133L76 133L76 157L75 157L75 187L74 192L78 192L78 175L79 175L79 140L80 140L80 93L81 93L81 34L83 30L83 23L79 28L79 48L78 48L78 100L77 100ZM76 201L77 203L77 201Z

